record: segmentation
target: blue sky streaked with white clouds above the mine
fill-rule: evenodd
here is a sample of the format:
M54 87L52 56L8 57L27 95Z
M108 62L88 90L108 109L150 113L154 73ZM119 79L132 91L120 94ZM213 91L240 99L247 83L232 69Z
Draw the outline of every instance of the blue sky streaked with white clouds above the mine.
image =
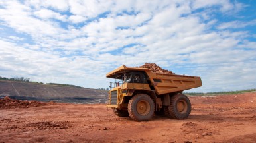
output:
M0 0L0 76L107 88L157 63L200 76L188 92L256 88L256 1Z

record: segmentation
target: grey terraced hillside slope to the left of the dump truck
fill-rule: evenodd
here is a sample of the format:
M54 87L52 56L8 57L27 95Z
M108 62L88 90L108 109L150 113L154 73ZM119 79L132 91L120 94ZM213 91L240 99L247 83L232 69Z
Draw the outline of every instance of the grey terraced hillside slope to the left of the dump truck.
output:
M21 100L105 103L107 90L0 80L0 96Z

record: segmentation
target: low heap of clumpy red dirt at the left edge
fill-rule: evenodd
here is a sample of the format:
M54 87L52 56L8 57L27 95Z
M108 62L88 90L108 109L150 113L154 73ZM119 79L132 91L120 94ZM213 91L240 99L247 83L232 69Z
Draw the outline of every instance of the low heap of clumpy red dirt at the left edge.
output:
M28 107L38 107L41 105L46 105L39 101L27 101L27 100L13 100L6 96L3 99L0 99L0 109L13 109L13 108L28 108Z

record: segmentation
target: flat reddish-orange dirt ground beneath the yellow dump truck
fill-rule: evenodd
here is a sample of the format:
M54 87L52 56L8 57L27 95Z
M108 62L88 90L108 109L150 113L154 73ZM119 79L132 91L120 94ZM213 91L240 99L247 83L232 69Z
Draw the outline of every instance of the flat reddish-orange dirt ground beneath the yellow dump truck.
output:
M119 118L105 105L0 110L1 142L256 142L256 93L190 97L186 120Z

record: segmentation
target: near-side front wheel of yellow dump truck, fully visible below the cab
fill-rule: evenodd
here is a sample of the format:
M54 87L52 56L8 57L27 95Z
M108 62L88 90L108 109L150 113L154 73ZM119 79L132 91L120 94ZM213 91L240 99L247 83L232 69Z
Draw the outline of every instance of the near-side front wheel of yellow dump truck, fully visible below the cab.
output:
M154 101L147 94L137 94L128 103L129 115L135 121L149 121L154 111Z

